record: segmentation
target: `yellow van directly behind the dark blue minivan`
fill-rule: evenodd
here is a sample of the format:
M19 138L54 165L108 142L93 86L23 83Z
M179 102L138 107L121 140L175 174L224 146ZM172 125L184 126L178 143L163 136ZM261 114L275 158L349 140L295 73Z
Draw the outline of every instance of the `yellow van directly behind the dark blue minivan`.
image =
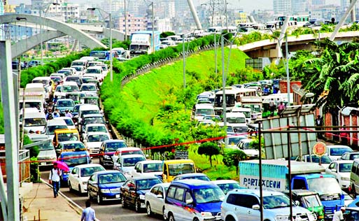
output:
M183 173L196 173L195 162L192 159L171 159L163 162L163 183L169 183L175 176Z

